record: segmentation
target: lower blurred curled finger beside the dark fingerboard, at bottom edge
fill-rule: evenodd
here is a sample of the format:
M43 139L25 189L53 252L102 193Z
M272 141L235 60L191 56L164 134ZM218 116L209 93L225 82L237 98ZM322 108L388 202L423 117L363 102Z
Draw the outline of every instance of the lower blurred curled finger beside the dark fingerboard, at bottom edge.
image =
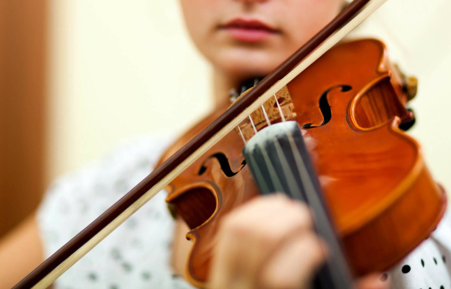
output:
M326 245L313 232L302 233L281 246L261 270L260 287L310 287L313 274L325 261Z

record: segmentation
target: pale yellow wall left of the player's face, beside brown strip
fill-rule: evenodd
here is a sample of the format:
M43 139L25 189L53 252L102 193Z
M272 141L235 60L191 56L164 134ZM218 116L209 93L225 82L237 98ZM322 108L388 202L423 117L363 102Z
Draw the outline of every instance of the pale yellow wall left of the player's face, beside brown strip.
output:
M178 1L51 0L48 180L212 105Z

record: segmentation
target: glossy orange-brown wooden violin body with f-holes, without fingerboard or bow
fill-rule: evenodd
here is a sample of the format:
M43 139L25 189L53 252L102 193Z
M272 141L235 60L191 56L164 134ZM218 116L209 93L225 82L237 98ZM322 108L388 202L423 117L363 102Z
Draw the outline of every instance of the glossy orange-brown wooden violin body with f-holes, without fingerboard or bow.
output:
M446 207L419 144L399 128L413 117L405 108L403 81L388 62L384 44L366 39L336 45L284 92L355 275L400 261L428 238ZM276 96L283 105L285 98ZM228 106L224 103L181 136L161 162ZM171 210L191 229L187 275L198 287L207 280L221 217L259 195L243 147L241 135L230 131L167 187Z

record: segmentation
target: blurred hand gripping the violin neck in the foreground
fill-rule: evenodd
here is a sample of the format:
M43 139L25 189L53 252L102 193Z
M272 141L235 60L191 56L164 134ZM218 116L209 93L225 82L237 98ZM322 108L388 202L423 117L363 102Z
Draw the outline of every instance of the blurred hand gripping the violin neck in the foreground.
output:
M223 218L208 288L309 288L325 254L307 205L281 194L260 196ZM386 288L376 275L358 286Z

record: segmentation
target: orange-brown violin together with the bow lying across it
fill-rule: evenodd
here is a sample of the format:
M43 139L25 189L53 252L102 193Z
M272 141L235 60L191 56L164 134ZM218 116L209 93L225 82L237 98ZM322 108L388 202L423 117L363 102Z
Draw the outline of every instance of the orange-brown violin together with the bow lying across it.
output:
M165 187L171 210L191 228L187 270L198 287L221 216L259 192L283 191L314 209L332 248L318 288L350 288L348 266L362 275L400 260L437 226L446 197L419 145L399 129L413 120L405 109L412 93L384 45L336 46L384 1L354 0L231 107L183 135L149 176L13 288L46 288Z

